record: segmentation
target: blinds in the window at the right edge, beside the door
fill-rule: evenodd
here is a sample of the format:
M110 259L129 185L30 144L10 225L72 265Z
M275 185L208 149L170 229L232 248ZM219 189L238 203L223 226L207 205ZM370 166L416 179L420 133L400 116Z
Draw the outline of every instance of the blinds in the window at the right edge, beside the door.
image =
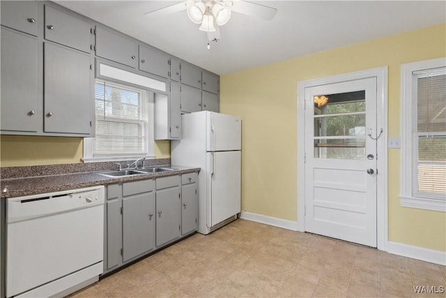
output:
M446 193L446 71L414 73L413 146L417 193Z

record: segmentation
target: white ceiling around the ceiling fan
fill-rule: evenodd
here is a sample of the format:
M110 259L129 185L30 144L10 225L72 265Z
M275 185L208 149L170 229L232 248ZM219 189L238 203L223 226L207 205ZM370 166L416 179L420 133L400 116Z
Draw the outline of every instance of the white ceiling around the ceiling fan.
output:
M219 75L446 22L446 1L254 1L275 18L232 13L208 50L185 11L145 16L180 1L55 2Z

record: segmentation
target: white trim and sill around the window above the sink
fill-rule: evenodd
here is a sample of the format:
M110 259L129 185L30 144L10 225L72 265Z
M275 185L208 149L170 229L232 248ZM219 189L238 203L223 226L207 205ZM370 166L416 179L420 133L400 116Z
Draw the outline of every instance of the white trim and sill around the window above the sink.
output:
M147 159L155 158L155 114L153 103L153 92L147 91L148 98L148 123L147 123ZM93 156L94 137L84 137L84 163L95 163L98 161L132 161L141 156Z

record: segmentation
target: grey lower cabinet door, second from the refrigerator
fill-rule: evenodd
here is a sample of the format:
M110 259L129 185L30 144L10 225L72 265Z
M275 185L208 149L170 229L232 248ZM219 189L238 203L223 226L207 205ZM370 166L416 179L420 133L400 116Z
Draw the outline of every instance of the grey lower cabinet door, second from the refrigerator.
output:
M156 246L180 237L180 188L156 192Z

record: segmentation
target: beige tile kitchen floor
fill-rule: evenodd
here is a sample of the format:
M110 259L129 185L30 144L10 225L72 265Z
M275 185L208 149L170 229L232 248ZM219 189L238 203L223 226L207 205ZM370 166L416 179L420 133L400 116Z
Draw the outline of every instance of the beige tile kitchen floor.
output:
M445 292L415 294L414 285ZM446 297L446 267L239 219L73 296Z

